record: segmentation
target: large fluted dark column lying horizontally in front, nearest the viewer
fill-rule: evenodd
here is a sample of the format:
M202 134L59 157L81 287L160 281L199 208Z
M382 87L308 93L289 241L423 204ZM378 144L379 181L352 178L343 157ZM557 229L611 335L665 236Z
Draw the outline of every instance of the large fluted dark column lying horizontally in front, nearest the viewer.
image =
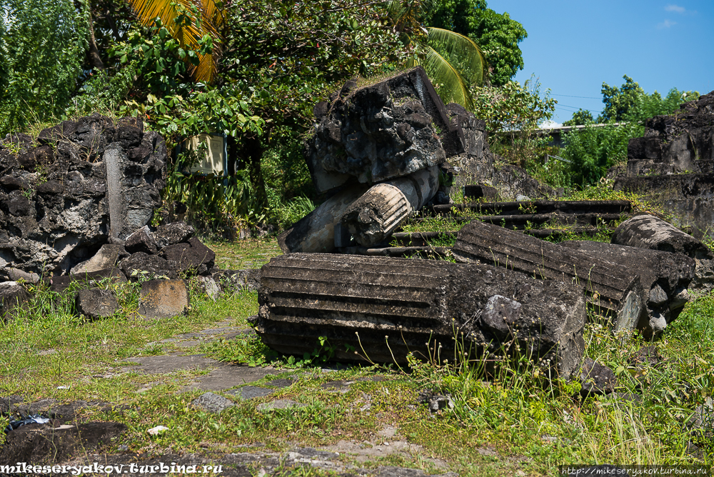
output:
M519 348L568 378L585 346L582 290L488 265L291 253L263 266L258 302L258 336L279 353L311 353L321 337L349 361Z

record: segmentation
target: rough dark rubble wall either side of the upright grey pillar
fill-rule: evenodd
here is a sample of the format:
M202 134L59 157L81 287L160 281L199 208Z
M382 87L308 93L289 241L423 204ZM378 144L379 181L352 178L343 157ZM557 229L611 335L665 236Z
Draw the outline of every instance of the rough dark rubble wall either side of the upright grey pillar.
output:
M131 226L124 231L116 224L117 236L124 238L148 224L154 207L161 204L166 144L154 132L141 132L142 144L148 141L151 152L147 161L137 164L125 151L134 140L125 139L111 119L95 114L42 131L41 146L23 143L27 147L19 156L2 149L0 258L27 272L64 274L106 243L114 202L115 219ZM112 204L109 156L117 172ZM128 162L134 169L125 167ZM42 174L36 171L40 166Z

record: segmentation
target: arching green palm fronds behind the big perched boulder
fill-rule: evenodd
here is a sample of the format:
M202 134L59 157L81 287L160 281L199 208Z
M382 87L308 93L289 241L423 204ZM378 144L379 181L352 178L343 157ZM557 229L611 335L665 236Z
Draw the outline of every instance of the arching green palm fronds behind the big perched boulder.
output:
M454 31L424 27L421 12L430 0L391 0L387 4L393 31L412 55L405 66L421 64L445 103L458 103L473 109L470 86L483 82L486 59L468 36Z

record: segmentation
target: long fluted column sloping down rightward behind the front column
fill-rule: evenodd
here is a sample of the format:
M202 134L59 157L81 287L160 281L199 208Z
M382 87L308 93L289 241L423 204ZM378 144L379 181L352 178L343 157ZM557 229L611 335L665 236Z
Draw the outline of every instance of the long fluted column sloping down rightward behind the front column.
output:
M473 221L458 233L452 251L456 261L577 284L599 313L611 317L614 331L633 331L645 308L640 279L627 268L503 227Z

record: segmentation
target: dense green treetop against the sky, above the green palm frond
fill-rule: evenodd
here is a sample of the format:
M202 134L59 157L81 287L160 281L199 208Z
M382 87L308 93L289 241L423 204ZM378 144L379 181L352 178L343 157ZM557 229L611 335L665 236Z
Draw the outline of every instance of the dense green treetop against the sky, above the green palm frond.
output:
M503 86L523 69L518 44L528 34L508 13L498 14L484 0L432 0L424 24L468 36L483 51L488 64L488 80Z

